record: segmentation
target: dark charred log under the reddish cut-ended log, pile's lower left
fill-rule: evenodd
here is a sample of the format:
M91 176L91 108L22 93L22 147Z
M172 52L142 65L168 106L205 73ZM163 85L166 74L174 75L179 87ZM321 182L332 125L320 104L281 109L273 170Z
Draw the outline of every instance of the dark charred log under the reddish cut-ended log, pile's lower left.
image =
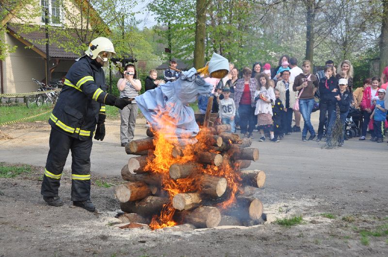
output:
M160 212L164 204L169 202L169 198L149 196L134 202L120 203L123 212L134 212L144 217L150 217Z

